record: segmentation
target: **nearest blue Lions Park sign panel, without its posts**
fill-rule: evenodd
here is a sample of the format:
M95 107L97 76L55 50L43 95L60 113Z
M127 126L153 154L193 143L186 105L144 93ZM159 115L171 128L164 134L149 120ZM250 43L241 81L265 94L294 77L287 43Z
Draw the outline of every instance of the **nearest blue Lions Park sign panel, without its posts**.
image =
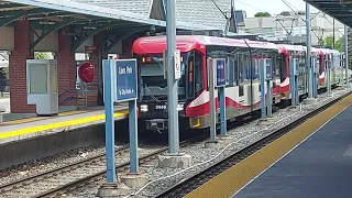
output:
M136 59L117 59L116 74L114 101L135 100L138 98Z

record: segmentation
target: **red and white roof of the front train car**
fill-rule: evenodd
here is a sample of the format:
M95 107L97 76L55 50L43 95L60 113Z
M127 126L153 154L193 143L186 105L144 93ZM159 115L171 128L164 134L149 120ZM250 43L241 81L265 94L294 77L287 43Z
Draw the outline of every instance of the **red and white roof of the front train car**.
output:
M253 48L271 48L277 50L274 43L250 41L250 40L235 40L228 37L216 37L205 35L177 35L176 48L180 52L189 52L198 50L202 53L206 52L206 46L239 46L239 47L253 47ZM166 36L146 36L138 38L132 46L133 53L136 54L161 54L166 50Z

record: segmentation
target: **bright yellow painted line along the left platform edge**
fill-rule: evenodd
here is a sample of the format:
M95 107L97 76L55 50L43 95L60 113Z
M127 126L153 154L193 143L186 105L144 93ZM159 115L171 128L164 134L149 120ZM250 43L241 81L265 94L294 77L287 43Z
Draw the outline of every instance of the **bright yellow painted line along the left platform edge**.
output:
M129 114L129 110L123 110L123 111L113 113L114 118L124 117L127 114ZM35 132L41 132L41 131L46 131L46 130L52 130L57 128L64 128L69 125L78 125L78 124L95 122L103 119L106 119L106 116L99 114L99 116L88 117L88 118L82 118L77 120L69 120L69 121L57 122L53 124L45 124L45 125L32 127L32 128L15 130L15 131L9 131L9 132L0 133L0 139L7 139L11 136L30 134L30 133L35 133Z

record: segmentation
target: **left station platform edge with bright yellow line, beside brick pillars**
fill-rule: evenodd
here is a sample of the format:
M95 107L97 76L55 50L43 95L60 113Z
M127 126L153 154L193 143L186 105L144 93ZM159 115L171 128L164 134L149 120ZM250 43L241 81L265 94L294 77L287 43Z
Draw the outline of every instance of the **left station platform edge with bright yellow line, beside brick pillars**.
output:
M84 129L105 123L105 110L78 110L58 113L56 117L34 117L0 123L0 144L53 133ZM114 107L114 119L129 114L127 103Z

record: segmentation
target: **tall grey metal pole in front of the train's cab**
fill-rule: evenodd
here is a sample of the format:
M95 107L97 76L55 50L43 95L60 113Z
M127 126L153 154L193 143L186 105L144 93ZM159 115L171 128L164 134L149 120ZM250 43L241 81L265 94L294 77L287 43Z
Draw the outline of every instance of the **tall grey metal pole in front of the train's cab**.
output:
M175 79L175 59L176 50L176 20L175 20L176 0L166 1L166 36L167 36L167 110L168 110L168 154L179 153L178 134L178 81Z

